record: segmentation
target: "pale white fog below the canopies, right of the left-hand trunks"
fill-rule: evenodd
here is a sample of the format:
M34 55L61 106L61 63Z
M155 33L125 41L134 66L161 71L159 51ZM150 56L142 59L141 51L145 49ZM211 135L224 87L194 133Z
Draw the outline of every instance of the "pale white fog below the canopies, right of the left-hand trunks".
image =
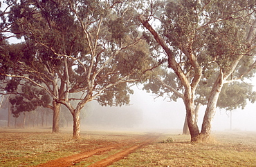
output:
M85 119L82 119L82 130L179 130L182 132L185 119L185 106L181 99L177 102L166 101L134 87L130 105L122 107L101 107L95 101L86 108ZM212 122L212 131L246 130L256 131L256 104L248 105L244 110L230 112L220 110ZM199 128L203 121L205 107L199 110ZM232 118L232 122L230 122ZM117 121L120 119L120 121ZM109 122L109 124L107 124ZM231 124L230 124L231 123Z

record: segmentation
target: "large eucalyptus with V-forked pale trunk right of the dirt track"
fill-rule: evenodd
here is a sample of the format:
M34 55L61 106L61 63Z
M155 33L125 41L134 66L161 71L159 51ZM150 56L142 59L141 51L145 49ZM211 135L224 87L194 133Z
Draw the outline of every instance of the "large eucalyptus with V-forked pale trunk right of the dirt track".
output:
M167 56L169 68L183 86L183 101L192 141L208 139L224 83L244 77L255 67L254 1L163 1L139 19ZM157 19L159 28L149 23ZM242 59L248 68L241 69ZM195 121L196 90L217 73L207 100L201 132Z

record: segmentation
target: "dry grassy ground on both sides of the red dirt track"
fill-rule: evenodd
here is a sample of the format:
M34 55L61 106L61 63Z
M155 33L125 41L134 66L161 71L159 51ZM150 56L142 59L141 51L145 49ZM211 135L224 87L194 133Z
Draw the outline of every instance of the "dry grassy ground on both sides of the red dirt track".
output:
M118 144L138 135L138 132L88 132L75 141L71 132L33 131L0 129L0 166L35 166L104 144ZM108 154L117 151L120 150L111 150ZM105 157L89 157L76 166L87 166ZM189 136L168 133L111 166L256 166L256 133L216 132L210 144L191 144Z

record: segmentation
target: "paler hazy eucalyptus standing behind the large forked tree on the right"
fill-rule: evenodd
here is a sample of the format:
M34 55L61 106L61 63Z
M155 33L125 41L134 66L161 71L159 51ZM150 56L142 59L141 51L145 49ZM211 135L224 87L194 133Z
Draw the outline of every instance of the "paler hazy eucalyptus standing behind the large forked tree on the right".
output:
M253 73L247 77L250 79L253 77ZM210 95L215 78L216 75L212 75L207 79L207 81L199 82L199 86L196 89L196 98L194 99L195 122L198 121L200 107L207 105L207 99ZM154 93L156 98L164 97L164 99L167 101L177 101L177 99L183 100L184 98L184 89L179 79L173 72L170 70L168 71L167 68L163 67L158 68L154 75L149 77L149 79L145 82L143 89L147 90L147 92ZM255 102L255 91L253 91L253 85L246 83L246 81L235 81L223 86L217 102L217 107L225 110L235 110L237 108L244 109L248 101L251 103ZM183 135L190 134L187 123L187 119L185 118Z

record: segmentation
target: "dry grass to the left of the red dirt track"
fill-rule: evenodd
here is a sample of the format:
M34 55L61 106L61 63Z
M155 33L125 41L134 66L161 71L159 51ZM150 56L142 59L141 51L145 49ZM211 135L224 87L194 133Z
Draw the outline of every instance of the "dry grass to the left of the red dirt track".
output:
M54 134L51 129L0 128L0 166L37 166L60 157L129 141L136 136L137 133L86 132L80 139L73 140L71 131Z

